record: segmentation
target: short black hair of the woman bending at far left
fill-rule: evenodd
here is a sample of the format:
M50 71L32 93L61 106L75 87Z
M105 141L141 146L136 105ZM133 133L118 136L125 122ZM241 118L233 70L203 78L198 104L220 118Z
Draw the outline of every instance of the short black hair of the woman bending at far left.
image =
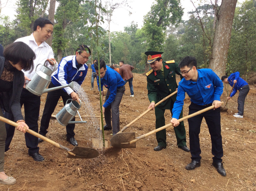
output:
M4 57L12 64L20 64L24 71L34 69L33 60L36 58L34 51L24 42L13 42L4 49Z

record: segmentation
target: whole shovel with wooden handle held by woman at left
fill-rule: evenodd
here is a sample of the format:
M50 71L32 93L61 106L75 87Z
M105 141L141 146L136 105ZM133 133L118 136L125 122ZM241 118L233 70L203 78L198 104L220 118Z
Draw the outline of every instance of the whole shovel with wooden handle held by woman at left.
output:
M6 119L4 117L1 117L1 116L0 116L0 120L5 123L8 123L12 126L15 126L15 127L19 126L18 123L15 123L15 122L13 122L9 119ZM70 150L67 147L64 147L63 145L60 145L59 143L54 142L54 141L44 137L43 135L36 133L35 131L27 129L26 127L24 127L24 128L26 129L27 133L32 134L50 144L52 144L53 146L55 146L59 149L65 150L68 153L68 155L66 156L67 158L95 158L95 157L99 156L99 152L95 149L75 146L72 150Z

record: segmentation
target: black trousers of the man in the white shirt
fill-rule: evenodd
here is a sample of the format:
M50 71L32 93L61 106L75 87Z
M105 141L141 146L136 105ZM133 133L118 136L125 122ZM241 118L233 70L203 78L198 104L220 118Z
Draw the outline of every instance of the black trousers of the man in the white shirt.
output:
M29 129L38 133L38 117L40 111L40 96L36 96L30 93L27 89L23 88L20 96L20 105L24 105L25 121ZM5 112L4 116L13 121L13 116L10 113ZM15 121L16 122L16 121ZM5 141L5 151L9 149L9 146L14 135L15 127L9 124L5 124L7 138ZM39 152L38 138L32 134L25 133L26 146L28 147L28 154L34 154Z

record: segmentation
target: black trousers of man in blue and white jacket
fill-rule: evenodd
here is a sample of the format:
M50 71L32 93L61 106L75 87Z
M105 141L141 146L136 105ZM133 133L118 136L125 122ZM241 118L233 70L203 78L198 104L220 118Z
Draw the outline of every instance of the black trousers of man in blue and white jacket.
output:
M56 87L56 86L54 86L53 83L51 82L49 84L48 88L53 88L53 87ZM67 92L64 92L64 90L62 90L62 89L48 92L47 97L46 97L46 102L44 105L44 112L43 112L43 116L41 119L41 126L40 126L39 134L45 135L48 133L47 129L49 127L50 119L51 119L51 116L52 116L52 113L53 113L55 107L58 104L60 96L63 99L64 105L66 104L68 99L71 99L71 96L69 96L67 94ZM75 118L73 118L71 121L75 121ZM74 129L75 129L75 124L68 124L66 126L68 138L73 138L75 136Z

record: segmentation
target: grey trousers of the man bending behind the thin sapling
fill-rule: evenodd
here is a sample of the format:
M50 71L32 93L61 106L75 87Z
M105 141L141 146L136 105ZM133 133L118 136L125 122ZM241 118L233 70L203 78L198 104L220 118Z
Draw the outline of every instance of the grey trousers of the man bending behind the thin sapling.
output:
M112 130L113 135L117 134L120 131L120 124L119 124L119 105L121 103L122 97L124 95L125 86L117 88L116 90L116 97L114 101L105 108L105 121L106 127L111 127L111 110L112 110ZM110 96L110 91L108 89L107 95L105 98L105 102L107 101L108 97Z

